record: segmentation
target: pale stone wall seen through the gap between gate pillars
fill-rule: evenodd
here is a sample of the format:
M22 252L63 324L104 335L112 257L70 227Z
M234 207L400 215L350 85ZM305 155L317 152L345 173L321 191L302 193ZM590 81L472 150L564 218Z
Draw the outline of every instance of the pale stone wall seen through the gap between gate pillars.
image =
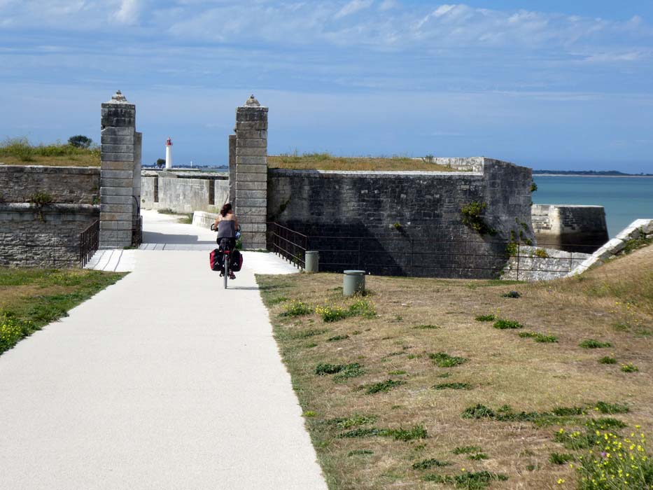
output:
M229 180L223 175L143 172L141 177L141 207L146 209L211 212L228 198Z

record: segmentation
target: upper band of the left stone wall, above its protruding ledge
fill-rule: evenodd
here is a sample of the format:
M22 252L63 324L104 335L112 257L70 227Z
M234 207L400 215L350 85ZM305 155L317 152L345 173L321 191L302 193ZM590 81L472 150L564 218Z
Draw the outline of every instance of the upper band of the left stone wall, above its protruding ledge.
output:
M52 202L96 204L99 186L99 167L0 165L0 202L28 202L43 193Z

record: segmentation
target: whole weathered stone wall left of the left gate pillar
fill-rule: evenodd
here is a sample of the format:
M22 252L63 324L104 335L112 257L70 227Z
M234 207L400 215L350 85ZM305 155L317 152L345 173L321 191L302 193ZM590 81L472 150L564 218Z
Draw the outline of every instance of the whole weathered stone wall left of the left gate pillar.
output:
M99 185L99 168L0 165L0 265L76 266L79 235L99 219Z

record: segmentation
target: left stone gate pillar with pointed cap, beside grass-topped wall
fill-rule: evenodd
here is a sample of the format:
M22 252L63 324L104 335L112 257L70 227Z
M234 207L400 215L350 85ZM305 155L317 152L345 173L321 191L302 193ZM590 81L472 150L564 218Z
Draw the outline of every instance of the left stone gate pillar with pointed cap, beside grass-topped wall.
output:
M136 106L118 90L102 104L100 248L132 244L132 221L138 208L134 200L136 193L140 195L140 189L134 188L134 167L141 160L141 139L135 127Z

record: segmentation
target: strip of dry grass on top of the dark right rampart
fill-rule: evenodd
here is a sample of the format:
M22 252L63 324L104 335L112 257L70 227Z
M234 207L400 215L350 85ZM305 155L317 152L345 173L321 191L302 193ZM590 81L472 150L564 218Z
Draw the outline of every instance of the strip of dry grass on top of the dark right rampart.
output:
M267 165L273 169L454 172L450 167L407 157L337 157L330 153L272 155Z

